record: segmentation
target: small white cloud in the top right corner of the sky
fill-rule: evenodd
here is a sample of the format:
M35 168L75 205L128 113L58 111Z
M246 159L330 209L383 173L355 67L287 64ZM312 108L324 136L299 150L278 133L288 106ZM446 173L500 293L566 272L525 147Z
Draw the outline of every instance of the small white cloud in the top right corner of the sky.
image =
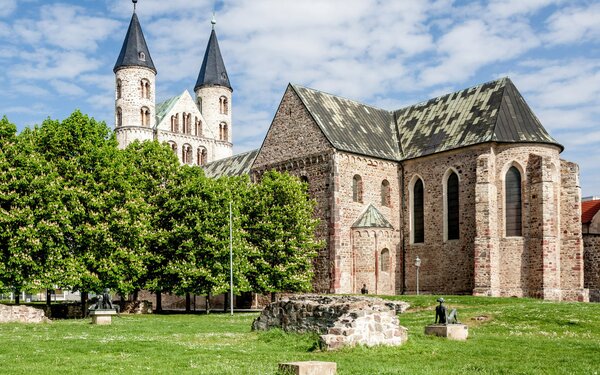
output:
M561 9L548 18L547 24L549 32L544 39L550 44L597 40L600 37L600 3Z

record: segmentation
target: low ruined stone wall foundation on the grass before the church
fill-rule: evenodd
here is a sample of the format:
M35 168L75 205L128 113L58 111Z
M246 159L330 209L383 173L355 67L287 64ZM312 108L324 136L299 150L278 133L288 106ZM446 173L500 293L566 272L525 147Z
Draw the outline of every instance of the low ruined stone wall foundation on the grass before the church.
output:
M265 307L252 329L317 332L321 347L327 350L402 345L408 334L396 314L408 307L406 302L373 297L294 295Z

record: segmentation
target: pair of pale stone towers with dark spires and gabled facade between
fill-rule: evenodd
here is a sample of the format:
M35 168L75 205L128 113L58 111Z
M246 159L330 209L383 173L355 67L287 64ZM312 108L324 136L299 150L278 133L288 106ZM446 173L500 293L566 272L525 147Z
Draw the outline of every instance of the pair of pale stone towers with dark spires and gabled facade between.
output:
M204 165L232 155L231 94L212 20L194 87L156 104L156 67L133 12L115 64L115 134L124 148L135 140L168 142L181 163Z

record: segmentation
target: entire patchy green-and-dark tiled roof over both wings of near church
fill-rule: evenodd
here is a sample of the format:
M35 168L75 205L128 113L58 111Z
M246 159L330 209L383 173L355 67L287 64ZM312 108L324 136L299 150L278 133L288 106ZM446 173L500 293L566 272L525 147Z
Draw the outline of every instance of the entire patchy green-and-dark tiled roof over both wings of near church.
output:
M393 112L306 87L292 88L338 150L405 160L493 141L562 148L509 78Z

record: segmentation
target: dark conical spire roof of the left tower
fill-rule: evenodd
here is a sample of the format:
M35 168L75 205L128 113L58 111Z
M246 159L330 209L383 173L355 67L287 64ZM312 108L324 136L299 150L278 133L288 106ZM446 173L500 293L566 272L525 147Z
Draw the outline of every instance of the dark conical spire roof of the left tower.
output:
M141 66L152 69L154 74L156 74L156 68L152 62L152 57L150 57L150 50L148 50L148 45L146 45L142 26L140 26L140 21L135 12L131 16L129 29L127 29L127 35L123 41L121 53L119 53L113 72L127 66Z

